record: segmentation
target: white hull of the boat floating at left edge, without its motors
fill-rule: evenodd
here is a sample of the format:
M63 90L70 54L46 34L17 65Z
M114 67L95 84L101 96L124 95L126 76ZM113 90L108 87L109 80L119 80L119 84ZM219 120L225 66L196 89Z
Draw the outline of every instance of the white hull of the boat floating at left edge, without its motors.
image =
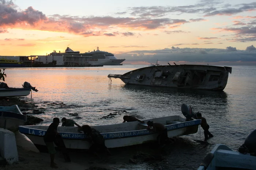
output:
M28 96L31 88L0 88L0 97Z

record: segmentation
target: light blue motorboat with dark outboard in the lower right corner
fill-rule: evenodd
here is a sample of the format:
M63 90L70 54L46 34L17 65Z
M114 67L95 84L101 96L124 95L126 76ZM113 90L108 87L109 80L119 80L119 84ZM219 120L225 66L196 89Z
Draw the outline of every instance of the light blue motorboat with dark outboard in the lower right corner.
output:
M206 155L197 170L256 170L256 130L234 151L224 144L217 144Z

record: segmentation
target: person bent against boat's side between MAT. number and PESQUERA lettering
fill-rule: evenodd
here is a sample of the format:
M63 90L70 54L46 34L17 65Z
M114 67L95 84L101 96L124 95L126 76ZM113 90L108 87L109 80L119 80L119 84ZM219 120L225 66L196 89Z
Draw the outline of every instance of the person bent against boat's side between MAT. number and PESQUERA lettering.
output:
M99 131L91 128L89 125L82 125L82 130L84 132L84 140L87 140L92 144L89 148L90 152L94 153L98 157L99 155L97 154L97 151L107 151L110 155L112 155L105 146L105 139Z

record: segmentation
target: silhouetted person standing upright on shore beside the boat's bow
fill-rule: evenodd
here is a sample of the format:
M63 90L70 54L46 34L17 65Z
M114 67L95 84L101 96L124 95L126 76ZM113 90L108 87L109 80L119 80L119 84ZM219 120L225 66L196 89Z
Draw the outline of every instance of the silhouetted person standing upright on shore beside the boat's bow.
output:
M57 164L54 163L54 156L56 154L56 150L54 147L54 140L56 139L56 136L58 135L57 127L60 124L60 119L57 117L53 118L53 123L51 123L44 135L44 142L46 144L46 147L48 148L48 152L50 154L50 167L57 169Z

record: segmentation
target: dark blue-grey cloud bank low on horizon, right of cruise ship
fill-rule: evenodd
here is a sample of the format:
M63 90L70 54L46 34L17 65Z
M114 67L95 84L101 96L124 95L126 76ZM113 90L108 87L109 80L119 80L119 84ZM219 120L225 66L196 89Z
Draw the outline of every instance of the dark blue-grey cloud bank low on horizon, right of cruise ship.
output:
M256 65L256 48L251 45L246 50L237 50L236 47L226 49L200 49L172 47L163 50L137 50L115 55L125 58L127 64L158 63L167 65L176 63L213 63L219 65Z

